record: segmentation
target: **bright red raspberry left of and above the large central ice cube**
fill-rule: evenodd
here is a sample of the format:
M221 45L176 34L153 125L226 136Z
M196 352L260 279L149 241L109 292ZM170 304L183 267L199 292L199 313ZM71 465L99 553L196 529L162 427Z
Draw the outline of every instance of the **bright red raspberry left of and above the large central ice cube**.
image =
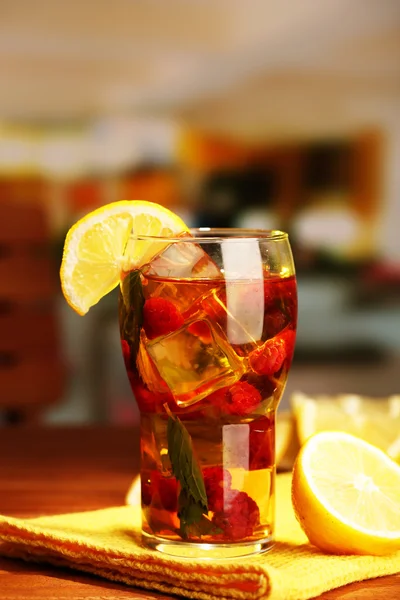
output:
M172 302L165 298L149 298L143 307L143 327L149 339L167 335L181 327L184 319Z

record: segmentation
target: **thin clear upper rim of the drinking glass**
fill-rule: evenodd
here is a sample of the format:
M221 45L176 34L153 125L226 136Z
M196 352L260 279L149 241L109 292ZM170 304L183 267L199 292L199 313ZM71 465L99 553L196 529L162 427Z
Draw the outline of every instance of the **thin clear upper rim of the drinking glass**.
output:
M226 240L237 241L282 241L287 240L289 235L280 229L246 229L241 227L191 227L189 229L191 236L185 236L182 233L178 236L158 236L158 235L135 235L131 237L135 240L149 242L168 242L168 243L218 243Z

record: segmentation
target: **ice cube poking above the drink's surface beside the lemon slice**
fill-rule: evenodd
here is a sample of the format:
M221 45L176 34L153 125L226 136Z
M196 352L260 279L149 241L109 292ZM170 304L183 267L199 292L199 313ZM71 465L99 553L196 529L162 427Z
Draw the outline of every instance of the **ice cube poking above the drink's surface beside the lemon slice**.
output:
M170 244L154 258L148 266L147 273L176 279L221 277L221 271L205 250L193 241L184 240L185 238L182 238L182 242Z

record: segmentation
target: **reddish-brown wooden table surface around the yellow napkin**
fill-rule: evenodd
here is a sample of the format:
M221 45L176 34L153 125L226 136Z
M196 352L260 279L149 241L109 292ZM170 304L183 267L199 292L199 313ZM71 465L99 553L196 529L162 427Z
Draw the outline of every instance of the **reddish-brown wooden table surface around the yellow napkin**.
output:
M0 429L0 513L18 517L124 503L138 471L138 432L123 428ZM1 600L150 600L161 594L77 571L0 558ZM400 576L327 592L322 600L394 600Z

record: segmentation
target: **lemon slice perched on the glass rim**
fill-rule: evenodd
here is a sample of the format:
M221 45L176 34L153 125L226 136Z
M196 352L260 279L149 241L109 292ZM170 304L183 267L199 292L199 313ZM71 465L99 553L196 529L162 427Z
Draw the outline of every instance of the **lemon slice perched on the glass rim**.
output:
M135 236L171 237L187 232L173 212L144 200L113 202L87 214L68 231L61 263L61 287L80 315L120 282L124 271L149 262L167 245Z

